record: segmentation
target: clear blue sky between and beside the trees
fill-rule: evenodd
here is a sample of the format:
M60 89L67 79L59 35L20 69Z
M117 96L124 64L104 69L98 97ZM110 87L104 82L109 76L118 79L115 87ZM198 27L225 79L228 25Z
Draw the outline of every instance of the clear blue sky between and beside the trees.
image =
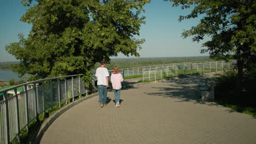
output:
M27 7L21 0L3 1L0 5L0 62L17 61L14 56L5 51L5 45L18 42L18 34L27 35L31 25L20 21L26 13ZM144 6L146 10L146 25L141 26L138 38L146 39L142 50L138 51L141 57L187 57L207 56L201 54L201 43L193 43L191 38L183 39L181 33L184 29L196 26L199 19L178 22L179 15L189 14L190 10L172 7L171 2L152 0ZM125 58L119 55L114 58Z

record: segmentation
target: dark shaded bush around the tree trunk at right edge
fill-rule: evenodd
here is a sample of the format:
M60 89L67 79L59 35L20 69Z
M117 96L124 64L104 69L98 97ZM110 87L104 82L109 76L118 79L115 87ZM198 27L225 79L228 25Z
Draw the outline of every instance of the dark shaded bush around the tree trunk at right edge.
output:
M235 70L225 71L223 75L216 77L215 99L221 105L256 117L255 71L245 71L243 97L236 96L236 78L237 72Z

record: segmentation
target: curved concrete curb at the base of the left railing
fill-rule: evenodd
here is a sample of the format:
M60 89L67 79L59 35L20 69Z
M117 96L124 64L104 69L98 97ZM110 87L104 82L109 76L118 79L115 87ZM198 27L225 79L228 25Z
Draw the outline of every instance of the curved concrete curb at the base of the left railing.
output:
M72 103L67 104L66 106L62 107L60 110L57 110L53 115L48 117L45 122L41 125L39 129L37 129L36 133L33 135L32 139L28 143L40 143L45 131L50 127L50 125L57 119L62 113L71 109L73 106L81 103L84 100L90 99L92 97L97 96L98 93L90 94L84 98L78 99L73 101Z

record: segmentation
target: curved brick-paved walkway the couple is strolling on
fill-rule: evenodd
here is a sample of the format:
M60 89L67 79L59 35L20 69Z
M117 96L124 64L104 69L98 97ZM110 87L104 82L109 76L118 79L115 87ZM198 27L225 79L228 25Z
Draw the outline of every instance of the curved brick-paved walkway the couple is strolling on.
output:
M177 78L121 91L121 107L101 108L98 97L67 110L40 143L256 143L256 119L196 97L207 75Z

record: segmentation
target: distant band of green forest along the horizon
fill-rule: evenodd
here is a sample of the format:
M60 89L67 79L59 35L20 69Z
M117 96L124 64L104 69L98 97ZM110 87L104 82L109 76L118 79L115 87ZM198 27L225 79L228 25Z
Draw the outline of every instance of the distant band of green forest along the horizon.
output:
M115 65L118 65L119 69L143 67L148 65L159 65L169 63L182 63L182 62L202 62L202 61L213 61L208 56L200 57L155 57L155 58L114 58L110 63L106 64L109 70L112 70ZM19 62L0 62L0 69L10 69L11 64ZM100 63L95 64L96 70L100 66Z

